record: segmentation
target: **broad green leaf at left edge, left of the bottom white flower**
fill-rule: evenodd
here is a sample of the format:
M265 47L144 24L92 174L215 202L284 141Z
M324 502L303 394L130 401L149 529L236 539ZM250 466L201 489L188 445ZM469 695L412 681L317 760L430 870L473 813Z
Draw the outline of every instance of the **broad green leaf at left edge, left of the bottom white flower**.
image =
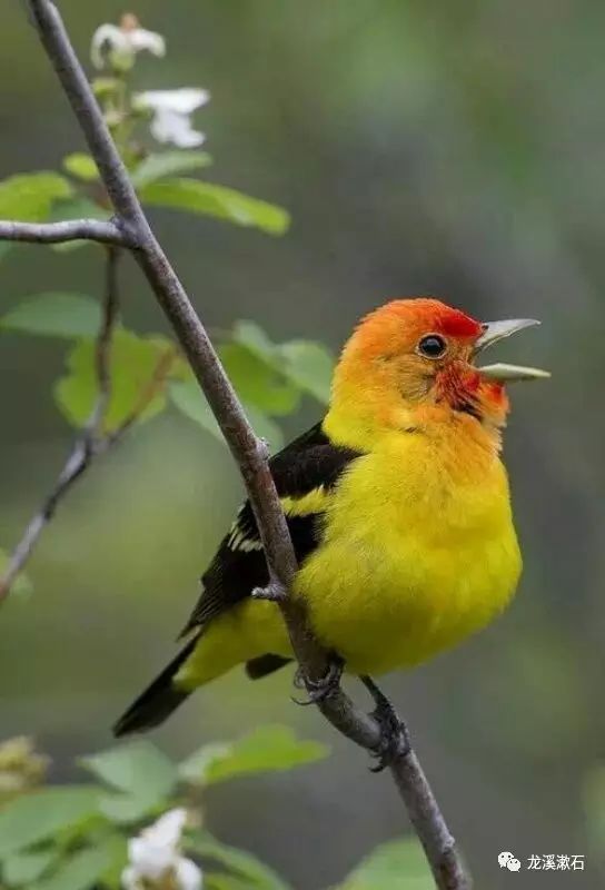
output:
M0 809L0 858L52 837L98 813L100 791L90 785L44 788Z

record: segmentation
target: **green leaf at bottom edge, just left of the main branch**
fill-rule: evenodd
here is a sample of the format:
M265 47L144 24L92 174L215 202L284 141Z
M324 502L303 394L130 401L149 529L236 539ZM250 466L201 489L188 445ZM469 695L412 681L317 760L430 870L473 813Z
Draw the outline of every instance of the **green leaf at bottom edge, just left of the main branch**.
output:
M434 890L425 854L418 841L388 841L363 860L338 890Z

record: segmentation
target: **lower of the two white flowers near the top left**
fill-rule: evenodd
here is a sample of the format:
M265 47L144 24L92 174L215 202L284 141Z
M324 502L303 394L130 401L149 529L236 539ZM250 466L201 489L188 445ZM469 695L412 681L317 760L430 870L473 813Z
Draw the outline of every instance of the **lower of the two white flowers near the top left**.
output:
M191 126L191 115L210 99L208 90L184 87L178 90L150 90L133 97L138 108L152 112L151 135L158 142L194 148L206 139Z

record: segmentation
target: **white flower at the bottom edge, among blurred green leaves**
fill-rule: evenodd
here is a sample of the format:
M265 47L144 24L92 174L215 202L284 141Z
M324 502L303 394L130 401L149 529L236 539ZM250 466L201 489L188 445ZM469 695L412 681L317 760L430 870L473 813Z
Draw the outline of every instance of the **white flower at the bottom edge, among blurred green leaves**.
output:
M125 890L142 890L156 884L176 890L201 890L200 869L179 852L186 822L186 810L169 810L138 838L128 841L128 866L121 876Z

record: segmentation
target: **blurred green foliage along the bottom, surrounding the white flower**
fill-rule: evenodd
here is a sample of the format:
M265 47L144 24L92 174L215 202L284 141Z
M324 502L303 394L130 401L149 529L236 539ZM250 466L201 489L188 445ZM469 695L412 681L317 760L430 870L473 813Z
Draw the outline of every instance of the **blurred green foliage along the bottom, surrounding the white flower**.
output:
M291 890L256 857L216 840L205 827L210 784L291 770L326 756L317 742L285 726L259 728L236 742L202 745L180 763L147 741L81 758L87 782L44 785L44 759L28 740L0 744L0 887L2 890L120 890L127 841L137 827L176 805L190 808L184 852L202 864L209 890ZM42 764L42 768L41 768ZM413 840L385 844L339 888L430 890Z

